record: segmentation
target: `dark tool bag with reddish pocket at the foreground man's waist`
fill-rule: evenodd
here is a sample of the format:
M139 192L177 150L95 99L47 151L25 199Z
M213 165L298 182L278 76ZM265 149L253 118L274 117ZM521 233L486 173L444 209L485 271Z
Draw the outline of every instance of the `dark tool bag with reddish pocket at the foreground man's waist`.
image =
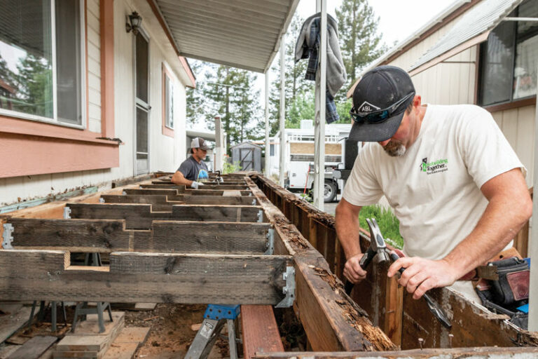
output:
M529 299L529 266L518 257L488 262L488 266L495 266L498 278L480 278L476 293L485 307L513 316Z

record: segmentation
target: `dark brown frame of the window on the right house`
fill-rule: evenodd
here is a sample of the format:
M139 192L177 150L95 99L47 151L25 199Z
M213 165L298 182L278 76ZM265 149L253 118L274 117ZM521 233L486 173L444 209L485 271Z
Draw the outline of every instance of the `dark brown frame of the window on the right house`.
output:
M515 17L519 17L519 6L515 9L515 12L516 14L514 15ZM483 73L484 73L484 70L485 70L485 60L486 60L486 57L485 57L485 46L488 44L488 41L484 41L483 43L481 43L478 47L478 53L480 55L480 59L479 59L479 67L478 67L478 96L477 96L477 102L478 102L478 105L480 105L481 107L484 107L485 109L488 109L490 111L502 111L504 109L512 109L512 108L516 108L516 107L523 107L523 106L527 106L529 104L535 104L536 103L536 98L537 98L537 94L534 94L534 95L528 95L528 96L525 96L525 97L518 97L517 99L514 99L513 98L513 81L514 81L514 72L515 72L515 69L516 69L516 60L517 60L517 57L518 57L518 52L517 52L517 49L518 49L518 27L517 27L517 23L516 22L516 29L514 31L514 34L513 34L513 58L511 59L512 62L511 62L511 84L512 84L512 88L511 88L511 91L510 91L510 99L509 100L505 100L505 101L499 101L499 102L492 102L490 104L484 104L483 103L483 89L484 89L484 83L483 83ZM538 32L536 34L534 34L534 36L538 36ZM531 37L534 37L534 36L531 36ZM538 79L537 79L538 81Z

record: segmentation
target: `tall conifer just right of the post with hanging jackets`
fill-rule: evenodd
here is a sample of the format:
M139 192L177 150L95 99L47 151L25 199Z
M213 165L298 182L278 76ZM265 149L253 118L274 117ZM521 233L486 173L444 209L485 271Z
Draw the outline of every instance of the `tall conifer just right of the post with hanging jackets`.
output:
M347 72L345 88L357 80L361 69L387 50L378 33L379 17L375 17L368 0L343 0L336 9L342 57ZM338 100L345 95L339 91Z

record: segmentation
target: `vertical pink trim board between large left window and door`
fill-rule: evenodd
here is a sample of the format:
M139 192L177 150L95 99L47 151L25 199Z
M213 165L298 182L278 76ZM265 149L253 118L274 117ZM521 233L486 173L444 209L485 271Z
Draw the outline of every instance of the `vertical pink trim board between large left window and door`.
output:
M101 31L101 132L102 137L116 137L114 128L114 2L100 0L99 13Z

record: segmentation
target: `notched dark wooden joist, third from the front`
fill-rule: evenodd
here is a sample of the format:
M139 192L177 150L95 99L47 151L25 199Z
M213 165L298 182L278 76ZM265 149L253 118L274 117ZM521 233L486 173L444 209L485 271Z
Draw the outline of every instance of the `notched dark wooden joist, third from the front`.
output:
M260 212L263 215L261 207L247 205L172 205L172 212L154 212L148 204L67 203L66 206L71 210L71 218L125 219L127 229L149 229L154 220L258 222Z

